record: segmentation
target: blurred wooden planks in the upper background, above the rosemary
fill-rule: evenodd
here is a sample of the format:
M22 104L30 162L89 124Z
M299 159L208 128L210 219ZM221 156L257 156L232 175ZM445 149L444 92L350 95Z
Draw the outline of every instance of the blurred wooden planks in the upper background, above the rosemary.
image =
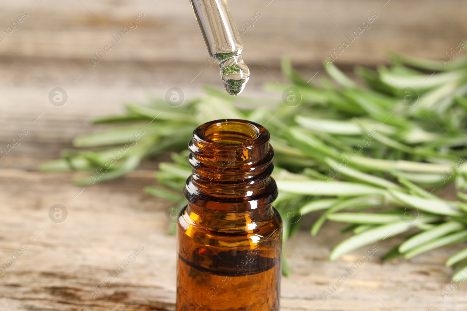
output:
M204 84L222 87L219 69L208 62L187 0L34 2L10 1L2 4L0 12L2 30L21 12L28 14L21 27L0 43L0 139L10 140L18 126L32 124L44 112L41 121L30 126L23 146L15 150L18 167L35 169L40 157L50 157L61 144L70 144L76 134L89 131L79 117L87 120L121 111L125 101L141 102L147 92L164 96L171 87L178 87L191 98ZM245 62L251 69L245 94L262 93L266 82L284 82L280 72L284 55L290 55L304 76L322 72L323 59L348 41L346 35L372 12L378 17L371 27L334 62L341 69L387 63L389 49L438 60L465 39L466 6L454 0L233 1L230 7L238 28L256 12L261 14L242 35ZM93 67L94 53L138 12L144 18L137 28ZM59 108L48 99L55 87L69 96ZM280 94L270 96L280 98ZM35 148L33 162L21 160L23 154L31 154L29 148ZM0 166L11 167L13 157L8 158Z

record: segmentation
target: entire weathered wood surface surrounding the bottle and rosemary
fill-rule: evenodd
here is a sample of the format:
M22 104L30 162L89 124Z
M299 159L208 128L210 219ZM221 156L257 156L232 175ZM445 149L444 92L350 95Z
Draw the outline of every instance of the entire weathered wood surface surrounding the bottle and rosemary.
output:
M351 76L354 65L374 69L388 63L388 50L439 60L467 40L467 2L461 0L230 0L229 4L238 28L256 12L261 14L242 35L244 60L251 70L244 93L271 102L280 101L281 94L266 92L262 85L285 82L280 67L284 55L305 77L319 77L328 53L348 41L346 36L374 12L377 17L370 28L334 62ZM125 102L142 103L149 94L164 97L172 87L183 90L186 98L201 95L206 84L222 88L218 66L208 59L190 2L16 0L2 1L0 7L0 31L23 16L19 27L7 30L0 42L0 146L21 129L28 131L21 144L0 160L0 263L28 245L21 262L0 277L0 310L174 310L175 239L164 227L163 203L141 191L154 183L151 170L156 163L143 164L137 176L92 187L73 185L70 174L43 175L37 167L59 157L78 134L92 131L92 117L121 112ZM144 17L137 27L93 65L90 58L115 41L113 36L139 12ZM50 90L57 87L68 96L60 107L49 101ZM61 227L47 215L57 203L69 210ZM343 270L339 265L346 264L327 262L324 245L333 244L333 236L338 235L332 228L327 230L322 241L310 240L305 232L291 242L295 278L283 282L283 310L315 310L318 304L316 310L361 310L362 306L386 310L361 284L354 285L356 291L348 288L342 299L322 301L323 289L316 287L326 288L336 275L332 271ZM106 289L99 303L92 300L90 290L139 244L147 251L138 264L113 289ZM420 265L441 262L436 257L425 259ZM372 292L385 305L390 305L391 297L403 295L404 306L389 310L428 310L439 303L440 288L450 282L449 273L441 268L426 272L413 263L401 263L399 272L393 271L396 266L382 270L373 262L366 269L363 279L381 276L363 284L373 286ZM410 285L401 292L398 284L404 282ZM457 295L457 305L465 307L466 299L461 292ZM425 301L423 307L420 301ZM461 310L449 309L454 302L430 310Z

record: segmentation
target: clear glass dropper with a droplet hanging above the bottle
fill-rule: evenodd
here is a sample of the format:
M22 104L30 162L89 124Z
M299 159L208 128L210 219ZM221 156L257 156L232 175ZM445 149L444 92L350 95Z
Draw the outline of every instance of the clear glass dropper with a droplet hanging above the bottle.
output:
M240 34L226 0L191 0L209 55L220 67L227 93L238 95L250 76Z

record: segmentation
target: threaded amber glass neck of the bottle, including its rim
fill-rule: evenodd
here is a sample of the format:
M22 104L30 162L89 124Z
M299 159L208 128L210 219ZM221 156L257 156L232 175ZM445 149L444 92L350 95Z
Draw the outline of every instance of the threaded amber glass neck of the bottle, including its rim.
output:
M188 208L248 212L270 207L277 197L270 177L274 151L259 124L225 119L202 124L189 143L193 174L184 187Z

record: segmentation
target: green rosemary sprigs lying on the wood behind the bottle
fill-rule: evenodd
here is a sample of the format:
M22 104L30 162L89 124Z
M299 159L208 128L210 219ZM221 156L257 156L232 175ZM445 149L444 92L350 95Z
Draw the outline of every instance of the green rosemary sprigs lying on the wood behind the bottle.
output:
M127 105L125 115L95 121L117 124L112 130L74 140L85 150L64 151L62 159L41 168L79 170L94 174L88 183L100 182L127 173L144 158L173 151L173 163L161 163L156 173L165 188L146 191L183 205L181 192L191 173L184 149L193 128L213 119L248 119L271 133L273 177L279 187L275 207L283 216L284 241L313 212L321 213L314 224L306 224L313 235L325 221L346 223L342 231L354 232L336 246L330 260L413 230L418 233L383 258L411 258L467 241L467 60L441 69L428 60L391 58L390 67L380 65L377 71L355 69L365 86L328 64L325 70L332 80L323 78L319 87L307 83L284 59L283 72L292 84L268 84L266 89L293 88L302 99L297 105L279 102L271 107L270 100L232 98L212 88L206 88L206 97L180 107L162 100ZM137 145L109 167L109 157L139 129L144 135ZM459 200L435 194L452 183ZM297 209L290 213L290 206ZM456 281L467 278L466 258L464 249L446 262L457 269ZM290 273L287 264L283 273Z

